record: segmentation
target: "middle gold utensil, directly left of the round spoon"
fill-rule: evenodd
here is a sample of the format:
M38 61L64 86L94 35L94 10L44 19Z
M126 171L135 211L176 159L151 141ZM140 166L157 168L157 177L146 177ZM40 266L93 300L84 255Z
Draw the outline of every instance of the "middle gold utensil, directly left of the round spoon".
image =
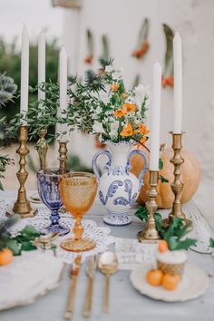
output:
M88 276L88 287L85 297L85 303L83 306L83 316L90 317L92 310L92 287L93 287L93 277L97 268L97 256L94 255L88 259L85 268L85 273Z

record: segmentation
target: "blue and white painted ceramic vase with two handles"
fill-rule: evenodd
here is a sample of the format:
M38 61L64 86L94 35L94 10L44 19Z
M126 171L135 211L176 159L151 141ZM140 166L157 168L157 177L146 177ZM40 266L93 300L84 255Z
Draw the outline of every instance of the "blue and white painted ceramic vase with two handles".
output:
M131 141L106 141L106 144L110 151L99 151L92 159L92 168L99 184L99 199L108 211L103 220L113 226L128 225L131 223L129 211L141 190L143 176L148 169L148 159L142 151L131 151ZM141 155L145 160L139 178L130 172L131 157L135 154ZM97 166L97 159L101 155L108 159L103 167L102 177Z

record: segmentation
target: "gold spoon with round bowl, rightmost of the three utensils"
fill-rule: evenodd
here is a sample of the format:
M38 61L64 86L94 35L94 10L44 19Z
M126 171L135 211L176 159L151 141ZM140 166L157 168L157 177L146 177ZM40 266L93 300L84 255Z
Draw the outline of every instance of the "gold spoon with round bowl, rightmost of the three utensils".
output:
M113 252L104 252L99 258L98 268L105 275L105 289L103 299L103 313L109 312L109 288L110 276L116 272L118 268L118 258Z

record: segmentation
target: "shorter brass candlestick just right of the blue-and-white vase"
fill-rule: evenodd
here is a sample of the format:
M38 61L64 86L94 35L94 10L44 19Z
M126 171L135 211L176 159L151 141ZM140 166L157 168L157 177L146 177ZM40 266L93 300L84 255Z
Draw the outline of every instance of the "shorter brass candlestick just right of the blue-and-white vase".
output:
M158 170L150 170L150 190L148 192L149 200L146 202L146 207L149 212L149 218L147 222L146 229L138 233L139 242L148 242L148 241L157 241L160 239L159 232L156 229L154 213L156 209L158 209L158 205L156 203L156 198L158 196L157 186L159 180L159 171Z

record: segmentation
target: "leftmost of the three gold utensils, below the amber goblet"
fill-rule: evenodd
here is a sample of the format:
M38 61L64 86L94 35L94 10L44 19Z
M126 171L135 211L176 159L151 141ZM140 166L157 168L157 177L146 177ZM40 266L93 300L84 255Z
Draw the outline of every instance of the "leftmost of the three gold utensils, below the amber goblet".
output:
M69 297L68 297L66 311L64 314L65 320L71 320L73 316L73 303L74 303L74 296L75 296L75 289L76 289L76 281L81 268L81 260L82 260L82 256L78 255L73 261L72 283L69 290Z

